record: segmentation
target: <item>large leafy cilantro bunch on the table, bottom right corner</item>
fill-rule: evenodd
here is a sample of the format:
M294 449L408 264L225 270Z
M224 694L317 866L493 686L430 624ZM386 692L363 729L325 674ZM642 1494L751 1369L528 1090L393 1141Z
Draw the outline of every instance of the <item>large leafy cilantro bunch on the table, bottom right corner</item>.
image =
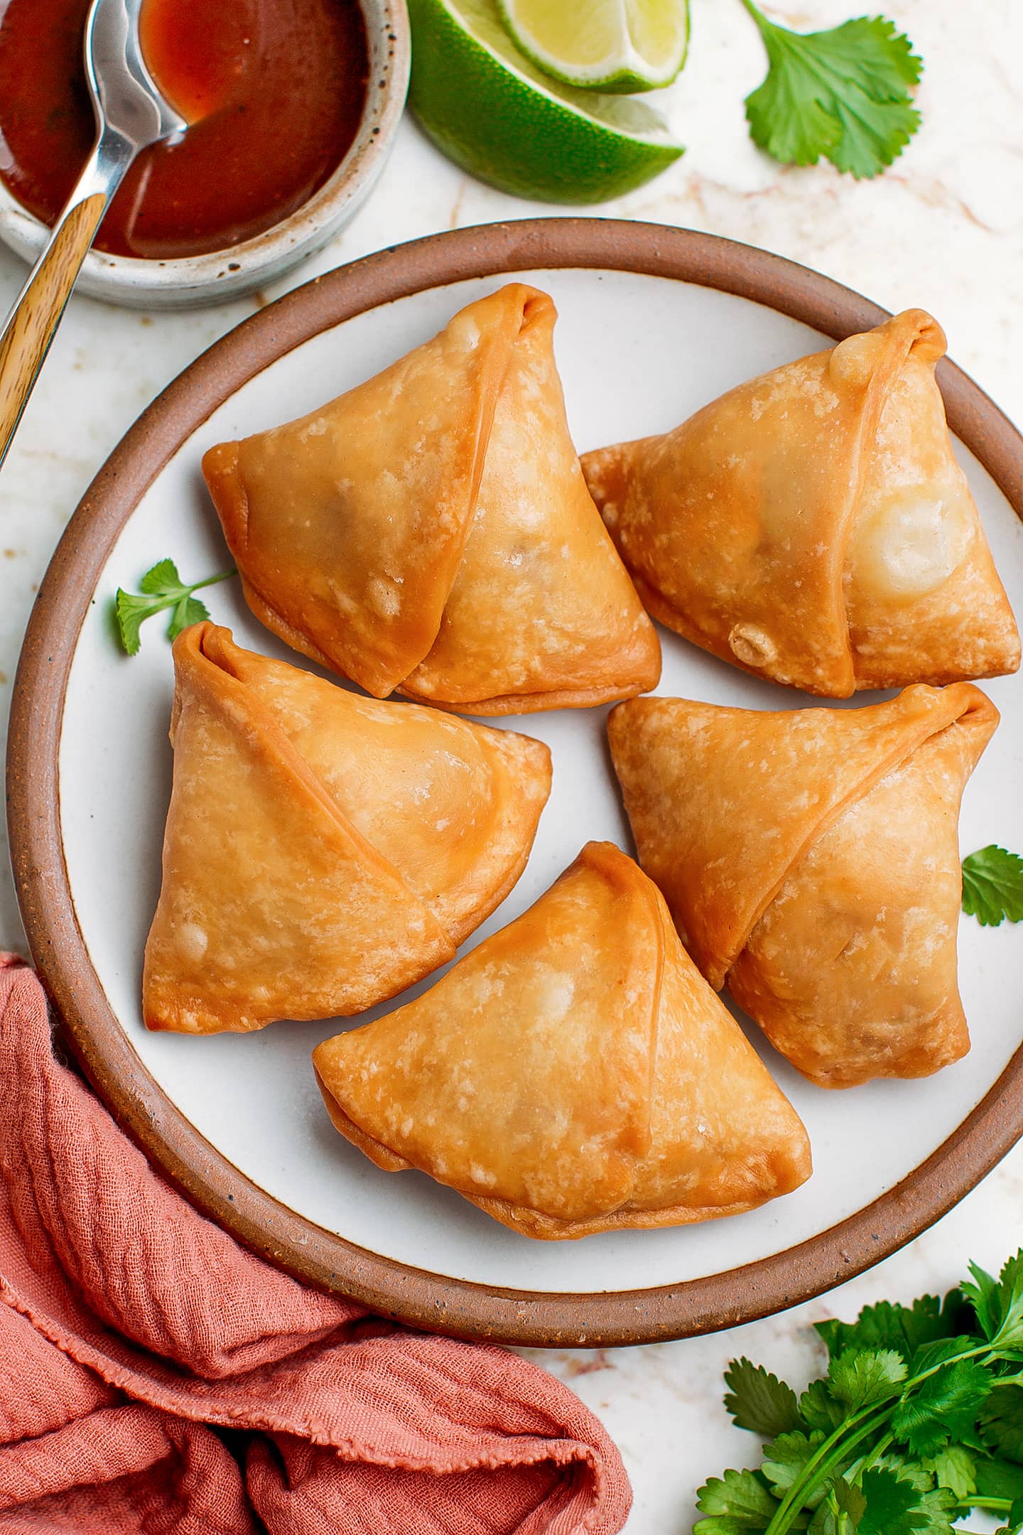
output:
M828 1371L802 1395L729 1366L725 1408L762 1460L699 1489L693 1535L956 1535L971 1509L1023 1532L1023 1249L945 1300L816 1329Z

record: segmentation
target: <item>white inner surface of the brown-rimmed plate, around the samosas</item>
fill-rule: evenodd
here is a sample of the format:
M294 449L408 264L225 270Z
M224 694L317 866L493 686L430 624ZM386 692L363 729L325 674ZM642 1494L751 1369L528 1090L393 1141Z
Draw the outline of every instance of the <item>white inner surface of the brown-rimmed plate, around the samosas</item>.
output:
M690 282L617 270L535 270L523 278L552 293L558 307L557 359L580 451L670 428L730 385L830 344L764 304ZM230 565L199 474L207 447L321 405L426 341L500 281L413 293L298 345L232 394L160 470L106 559L71 662L58 769L67 884L95 975L153 1082L210 1147L288 1210L373 1254L483 1286L551 1296L676 1286L744 1269L814 1239L893 1190L956 1133L1020 1044L1018 929L985 930L962 919L960 987L972 1048L925 1081L827 1093L741 1019L807 1125L813 1177L750 1214L581 1242L521 1237L423 1174L379 1171L333 1130L313 1079L311 1048L339 1028L400 1007L440 972L348 1021L278 1022L255 1035L213 1038L152 1035L141 1021L143 947L160 887L170 794L173 678L163 620L144 626L141 654L127 660L112 643L110 599L118 585L135 588L164 556L187 580ZM1018 609L1023 525L980 462L959 442L956 451ZM250 616L236 582L202 597L241 645L310 665ZM821 706L658 632L660 694L758 709ZM1002 726L966 787L965 853L991 841L1023 847L1023 677L983 686L1002 711ZM860 695L856 705L874 697ZM587 840L607 838L632 852L604 744L606 714L558 711L486 721L548 741L554 791L526 872L460 953L535 901Z

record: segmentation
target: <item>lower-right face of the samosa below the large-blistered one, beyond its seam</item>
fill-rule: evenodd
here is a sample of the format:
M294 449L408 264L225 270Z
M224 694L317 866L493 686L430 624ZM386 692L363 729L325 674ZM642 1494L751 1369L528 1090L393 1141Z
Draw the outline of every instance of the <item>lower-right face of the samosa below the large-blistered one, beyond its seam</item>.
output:
M959 801L949 725L805 852L729 973L739 1007L821 1087L929 1076L969 1033L959 998Z

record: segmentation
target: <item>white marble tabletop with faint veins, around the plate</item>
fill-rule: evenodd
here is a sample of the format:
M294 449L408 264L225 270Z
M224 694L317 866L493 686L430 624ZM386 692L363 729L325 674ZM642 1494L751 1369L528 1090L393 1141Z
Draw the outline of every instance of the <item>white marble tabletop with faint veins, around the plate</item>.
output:
M873 8L871 8L873 9ZM1023 424L1023 8L1017 0L893 0L926 61L923 130L883 178L856 184L830 166L782 169L750 144L742 97L762 75L758 35L738 0L693 0L684 77L661 94L687 155L604 216L707 229L765 246L848 282L890 309L920 304L946 327L956 361ZM834 25L853 0L771 6L793 26ZM411 121L368 207L325 252L255 299L192 315L138 315L74 299L0 479L0 717L6 725L21 634L46 562L81 491L143 407L253 307L380 246L434 230L534 213L463 177ZM23 279L0 250L0 307ZM1020 936L1023 944L1023 933ZM23 947L6 860L0 944ZM1023 1240L1023 1148L933 1231L830 1296L707 1339L534 1357L594 1408L635 1487L629 1535L687 1535L696 1486L756 1443L721 1408L736 1354L796 1383L816 1372L811 1320L880 1296L951 1286L969 1257L997 1266ZM971 1527L983 1529L974 1518Z

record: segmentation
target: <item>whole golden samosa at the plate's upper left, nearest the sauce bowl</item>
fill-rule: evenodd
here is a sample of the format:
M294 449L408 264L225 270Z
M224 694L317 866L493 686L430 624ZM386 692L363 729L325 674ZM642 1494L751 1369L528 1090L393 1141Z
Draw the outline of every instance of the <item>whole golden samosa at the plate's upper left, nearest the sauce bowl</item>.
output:
M382 698L626 698L661 652L590 500L557 312L512 282L322 410L202 459L258 619Z

